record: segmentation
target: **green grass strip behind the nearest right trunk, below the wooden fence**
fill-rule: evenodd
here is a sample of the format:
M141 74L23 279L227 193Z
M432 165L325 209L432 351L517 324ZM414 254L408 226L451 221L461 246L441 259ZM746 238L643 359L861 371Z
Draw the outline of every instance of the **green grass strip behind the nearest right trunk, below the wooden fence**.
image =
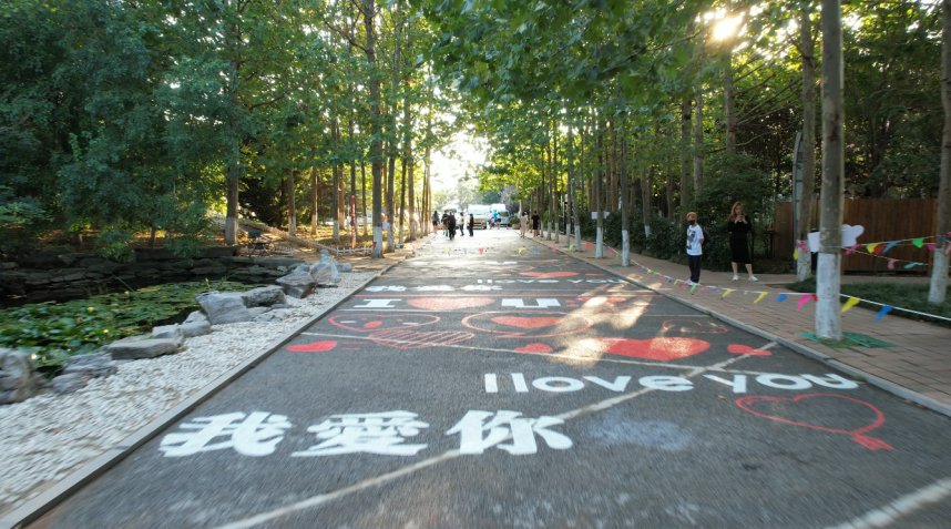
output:
M786 287L794 292L816 292L816 278L810 277L807 281L786 285ZM920 313L933 314L939 317L951 318L951 304L947 302L941 305L932 305L928 303L928 288L927 284L847 283L842 284L841 293L848 296L860 297L862 299L869 299L896 307L894 311L888 314L889 316L900 316L903 318L933 323L935 325L941 325L942 327L951 327L951 322L899 311L899 308L907 308ZM878 305L872 305L866 302L859 302L859 306L876 312L881 308Z

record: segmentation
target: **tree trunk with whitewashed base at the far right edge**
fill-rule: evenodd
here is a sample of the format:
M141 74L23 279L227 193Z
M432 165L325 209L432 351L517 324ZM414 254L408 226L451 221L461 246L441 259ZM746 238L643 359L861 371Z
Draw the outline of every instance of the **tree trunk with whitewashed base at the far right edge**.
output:
M944 131L941 136L941 183L938 186L938 247L931 261L928 303L941 305L948 293L948 248L951 248L951 0L942 0L941 104ZM940 244L943 242L943 244Z

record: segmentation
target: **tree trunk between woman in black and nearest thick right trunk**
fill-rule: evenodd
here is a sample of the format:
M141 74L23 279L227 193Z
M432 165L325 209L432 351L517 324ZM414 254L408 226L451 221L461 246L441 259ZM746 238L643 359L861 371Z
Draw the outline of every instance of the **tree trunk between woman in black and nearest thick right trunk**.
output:
M810 20L811 3L804 2L799 16L800 53L802 54L802 195L799 197L799 211L796 214L796 245L799 258L796 262L796 277L806 281L812 274L812 253L805 250L812 217L812 193L816 189L816 45L812 39ZM794 156L796 154L794 153Z

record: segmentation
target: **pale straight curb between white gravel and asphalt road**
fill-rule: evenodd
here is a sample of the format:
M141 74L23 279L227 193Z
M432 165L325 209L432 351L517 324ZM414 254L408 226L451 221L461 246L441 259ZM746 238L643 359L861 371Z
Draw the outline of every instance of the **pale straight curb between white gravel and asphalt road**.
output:
M78 470L71 472L69 476L57 482L57 485L52 486L50 489L43 491L35 498L28 500L22 506L13 509L12 511L3 515L0 518L0 529L20 529L29 523L37 521L40 517L51 511L53 508L69 499L76 490L85 487L91 481L95 480L103 474L105 474L112 467L119 465L123 459L129 457L134 450L140 448L145 442L152 440L157 437L158 433L168 427L172 423L178 420L183 416L191 413L198 405L204 403L205 400L213 397L219 390L222 390L225 386L250 370L257 364L265 360L268 356L276 353L280 349L284 344L294 339L299 333L304 332L310 325L314 325L323 318L327 313L334 311L338 306L342 305L347 301L349 301L355 294L362 291L368 284L379 278L381 275L386 274L395 266L402 263L403 260L397 261L387 265L386 267L377 271L371 277L367 278L367 281L357 285L348 296L338 299L333 305L327 306L318 314L314 315L314 317L308 318L307 322L301 324L299 327L285 333L280 338L275 342L272 342L272 346L268 346L264 349L263 353L244 360L242 364L231 368L225 372L223 375L218 376L191 396L188 396L185 400L175 405L172 409L165 411L155 419L151 420L149 424L139 428L134 433L130 434L125 437L117 446L108 449L103 454L96 456L89 462L84 464Z

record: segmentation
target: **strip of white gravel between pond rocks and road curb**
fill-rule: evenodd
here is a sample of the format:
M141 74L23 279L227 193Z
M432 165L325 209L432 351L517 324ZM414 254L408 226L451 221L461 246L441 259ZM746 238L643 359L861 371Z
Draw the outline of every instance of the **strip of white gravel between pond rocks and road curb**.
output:
M84 462L117 446L245 359L350 295L372 273L341 274L337 288L306 299L287 298L286 318L215 325L213 333L185 340L185 350L119 364L108 378L93 378L76 393L52 391L0 406L0 515L65 478Z

